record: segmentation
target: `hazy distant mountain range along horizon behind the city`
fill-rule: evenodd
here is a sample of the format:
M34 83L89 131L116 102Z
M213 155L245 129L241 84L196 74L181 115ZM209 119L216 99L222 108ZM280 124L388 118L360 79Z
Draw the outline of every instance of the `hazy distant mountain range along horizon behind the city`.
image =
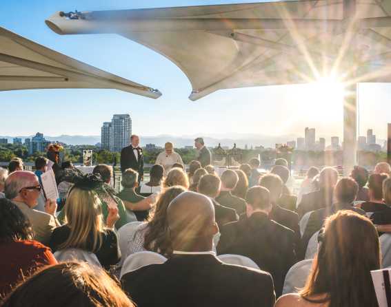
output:
M185 146L194 145L194 138L202 136L205 140L205 145L216 147L221 143L221 146L233 147L234 143L237 147L244 148L248 145L251 146L263 146L274 148L276 144L286 143L290 140L296 140L297 135L285 135L285 136L263 136L261 134L201 134L191 136L171 136L168 134L162 134L159 136L141 136L141 146L146 144L154 144L160 147L164 146L165 142L174 143L175 147L181 148ZM44 136L46 140L64 142L68 145L95 145L101 142L101 136ZM323 136L320 136L323 137ZM0 138L7 138L8 142L12 143L13 138L32 138L32 136L0 136ZM317 137L318 138L318 137ZM340 138L341 141L341 138ZM326 136L326 143L330 142L330 136ZM384 140L377 140L379 145L383 145Z

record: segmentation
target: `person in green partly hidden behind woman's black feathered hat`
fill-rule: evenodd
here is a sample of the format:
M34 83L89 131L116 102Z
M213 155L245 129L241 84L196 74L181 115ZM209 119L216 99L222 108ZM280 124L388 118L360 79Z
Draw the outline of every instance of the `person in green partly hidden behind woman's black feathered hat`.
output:
M100 164L94 167L92 173L99 174L103 180L103 184L99 185L95 192L97 193L99 200L101 200L103 220L106 221L109 213L109 206L117 207L119 220L115 223L117 229L121 226L128 224L128 222L137 221L136 215L132 211L126 212L125 205L121 198L117 197L114 189L110 186L112 178L112 167L110 165Z

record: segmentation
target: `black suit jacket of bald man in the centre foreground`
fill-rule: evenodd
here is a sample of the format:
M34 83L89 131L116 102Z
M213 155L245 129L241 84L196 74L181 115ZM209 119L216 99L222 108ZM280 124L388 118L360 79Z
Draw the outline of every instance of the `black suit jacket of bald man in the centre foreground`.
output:
M123 275L121 284L138 307L272 307L275 299L268 273L213 255L173 255Z

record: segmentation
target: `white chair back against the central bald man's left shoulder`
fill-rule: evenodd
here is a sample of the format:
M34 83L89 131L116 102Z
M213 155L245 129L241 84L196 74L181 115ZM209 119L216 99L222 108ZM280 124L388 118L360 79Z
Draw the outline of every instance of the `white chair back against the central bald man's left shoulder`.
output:
M121 268L120 279L126 273L136 271L143 266L149 266L150 264L162 264L167 261L167 258L152 251L139 251L129 255L123 262Z

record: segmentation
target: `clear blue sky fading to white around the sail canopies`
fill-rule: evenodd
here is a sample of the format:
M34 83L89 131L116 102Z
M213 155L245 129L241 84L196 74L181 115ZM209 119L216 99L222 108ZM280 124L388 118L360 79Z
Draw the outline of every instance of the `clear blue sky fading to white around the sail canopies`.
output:
M193 6L248 1L138 0L1 0L0 26L75 59L132 81L160 89L157 100L110 89L47 89L0 92L0 135L41 131L99 135L112 114L129 113L133 131L143 135L303 134L317 127L317 137L342 135L342 106L325 103L328 89L310 85L230 89L196 102L191 86L177 66L146 47L114 34L59 36L44 23L59 10L120 10ZM360 134L368 127L385 138L391 122L391 85L361 84ZM326 115L325 115L326 114ZM43 120L44 119L44 120Z

